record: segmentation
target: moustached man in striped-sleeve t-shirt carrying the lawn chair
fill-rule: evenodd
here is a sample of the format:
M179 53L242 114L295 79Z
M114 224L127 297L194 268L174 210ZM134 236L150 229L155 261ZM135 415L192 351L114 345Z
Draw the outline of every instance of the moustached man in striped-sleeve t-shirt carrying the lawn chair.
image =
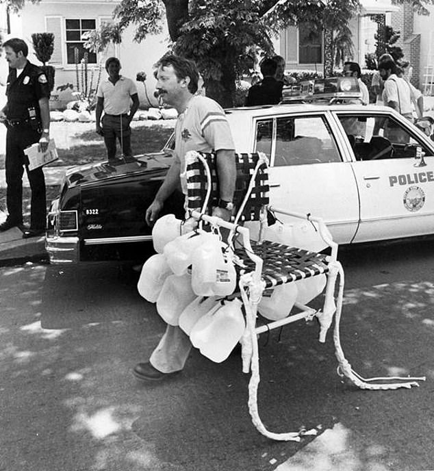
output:
M196 64L177 55L167 55L157 64L157 92L162 101L175 107L175 158L153 203L146 210L146 222L153 225L164 201L179 185L187 194L182 175L188 151L215 152L220 200L213 216L231 218L235 191L235 147L225 112L216 101L196 94L199 72ZM177 302L176 299L173 300ZM133 374L145 381L159 381L179 372L186 364L192 344L179 327L168 325L151 358L139 363Z

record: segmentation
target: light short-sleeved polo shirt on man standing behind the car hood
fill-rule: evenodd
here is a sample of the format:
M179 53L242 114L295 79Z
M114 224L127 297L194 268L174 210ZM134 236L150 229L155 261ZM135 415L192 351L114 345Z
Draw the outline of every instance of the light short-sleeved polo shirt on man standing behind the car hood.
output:
M127 114L130 108L131 95L137 93L136 84L129 78L120 75L116 84L107 78L100 82L97 97L104 99L105 114Z

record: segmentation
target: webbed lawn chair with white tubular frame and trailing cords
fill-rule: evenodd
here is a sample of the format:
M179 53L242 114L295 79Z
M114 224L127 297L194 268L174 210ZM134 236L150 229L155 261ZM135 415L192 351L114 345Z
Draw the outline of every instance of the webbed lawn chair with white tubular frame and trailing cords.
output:
M201 222L212 227L229 229L228 244L238 257L237 272L239 292L246 313L246 329L240 343L242 344L242 370L251 371L249 382L248 409L258 431L273 440L300 441L303 432L272 433L264 427L257 408L257 387L259 385L259 355L257 335L268 332L285 324L298 320L317 318L320 324L319 341L325 342L327 330L335 316L333 340L337 357L337 373L348 378L361 389L395 390L400 387L418 386L421 378L372 378L363 379L350 366L340 344L340 317L344 293L344 270L337 261L337 244L331 240L329 231L321 218L309 214L298 214L283 211L269 205L268 199L268 158L263 153L236 155L237 181L234 203L238 214L232 222L225 222L212 214L212 207L217 205L218 189L216 179L215 156L210 153L190 151L186 155L186 178L188 186L188 212ZM268 224L270 214L285 214L301 220L315 223L324 242L331 253L314 253L296 247L289 247L276 242L262 240L261 233ZM250 233L242 222L256 220L260 222L259 240L250 240ZM237 248L237 244L241 244ZM257 327L257 305L266 289L275 288L282 283L291 283L299 279L327 275L325 300L322 309L312 309L307 305L295 303L297 314L290 314L281 320L269 322ZM335 283L339 275L340 283L335 298ZM288 313L289 314L289 313ZM384 381L387 381L386 383ZM389 382L394 381L394 382ZM311 431L314 435L316 430ZM306 434L306 433L304 433Z

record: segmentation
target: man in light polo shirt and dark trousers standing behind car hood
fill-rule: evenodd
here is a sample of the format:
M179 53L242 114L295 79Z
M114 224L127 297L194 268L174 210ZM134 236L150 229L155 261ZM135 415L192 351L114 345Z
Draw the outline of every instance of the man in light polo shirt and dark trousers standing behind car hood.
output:
M120 142L123 155L133 155L129 124L139 107L136 84L120 75L120 68L118 58L108 58L105 70L109 76L101 81L97 90L97 133L104 138L109 163L116 161L116 139Z

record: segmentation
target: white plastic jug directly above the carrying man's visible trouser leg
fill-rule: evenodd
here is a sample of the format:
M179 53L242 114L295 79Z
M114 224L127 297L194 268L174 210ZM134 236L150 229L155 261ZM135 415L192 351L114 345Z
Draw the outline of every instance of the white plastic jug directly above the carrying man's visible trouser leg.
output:
M192 291L190 275L170 275L164 281L163 288L157 298L157 311L170 325L178 325L181 312L196 297Z

